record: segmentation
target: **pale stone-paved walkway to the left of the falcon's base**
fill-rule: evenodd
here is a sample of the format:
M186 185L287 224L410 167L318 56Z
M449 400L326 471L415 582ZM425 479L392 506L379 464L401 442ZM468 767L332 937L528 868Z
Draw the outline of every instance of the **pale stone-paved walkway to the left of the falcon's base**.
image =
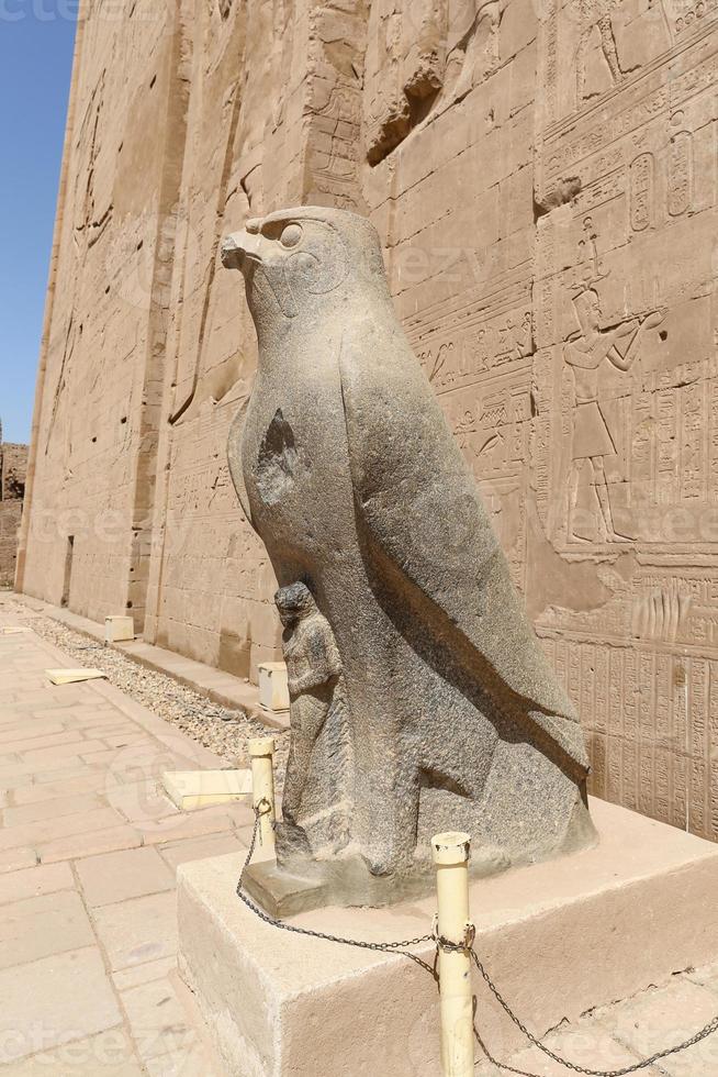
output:
M224 1077L172 980L176 869L251 811L179 812L162 771L226 764L104 681L51 686L67 665L0 637L0 1072Z

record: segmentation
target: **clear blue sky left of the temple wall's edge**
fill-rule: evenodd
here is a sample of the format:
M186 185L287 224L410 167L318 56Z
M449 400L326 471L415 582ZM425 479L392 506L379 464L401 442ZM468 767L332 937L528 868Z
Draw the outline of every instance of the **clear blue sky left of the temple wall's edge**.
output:
M74 0L0 0L0 419L30 438L75 41Z

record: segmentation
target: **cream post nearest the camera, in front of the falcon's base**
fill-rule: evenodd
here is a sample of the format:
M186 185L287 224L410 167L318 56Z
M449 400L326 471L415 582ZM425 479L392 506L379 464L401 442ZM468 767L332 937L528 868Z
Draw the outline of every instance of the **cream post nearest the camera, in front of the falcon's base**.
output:
M469 911L469 834L437 834L431 839L438 897L441 1070L444 1077L472 1077L474 1073L473 991Z

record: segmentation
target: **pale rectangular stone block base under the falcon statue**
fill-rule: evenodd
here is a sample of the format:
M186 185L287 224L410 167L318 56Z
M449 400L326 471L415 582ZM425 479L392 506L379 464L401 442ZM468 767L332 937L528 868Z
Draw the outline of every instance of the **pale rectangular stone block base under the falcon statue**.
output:
M718 959L718 846L601 801L592 812L597 847L472 885L476 952L538 1035ZM180 969L227 1074L439 1077L431 976L262 923L235 895L240 867L233 854L179 873ZM426 934L434 911L429 898L291 922L381 942ZM434 947L416 953L431 962ZM481 1037L504 1059L520 1034L478 975L474 989Z

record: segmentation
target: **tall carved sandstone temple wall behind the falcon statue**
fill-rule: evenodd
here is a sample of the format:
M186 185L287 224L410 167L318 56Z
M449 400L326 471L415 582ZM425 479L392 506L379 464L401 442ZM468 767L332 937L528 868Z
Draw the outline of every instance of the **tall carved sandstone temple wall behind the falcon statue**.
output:
M80 21L21 586L254 677L221 236L369 214L607 799L718 840L718 8L145 0ZM70 540L72 540L70 542Z

